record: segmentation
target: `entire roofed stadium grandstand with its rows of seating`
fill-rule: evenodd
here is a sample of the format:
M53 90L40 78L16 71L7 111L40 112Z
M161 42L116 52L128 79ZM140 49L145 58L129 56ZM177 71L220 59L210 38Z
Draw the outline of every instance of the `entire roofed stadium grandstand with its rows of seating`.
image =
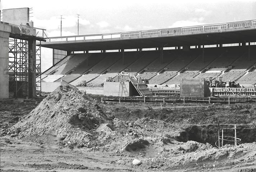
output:
M54 64L42 73L41 82L102 86L106 78L118 82L118 72L124 71L148 80L149 86L218 76L256 85L256 20L52 37L41 46L54 51Z

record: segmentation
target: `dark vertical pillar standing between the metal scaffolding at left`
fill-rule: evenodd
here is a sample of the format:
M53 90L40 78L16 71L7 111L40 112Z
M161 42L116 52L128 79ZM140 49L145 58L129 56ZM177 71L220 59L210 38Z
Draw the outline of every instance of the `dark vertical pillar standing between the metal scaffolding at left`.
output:
M36 96L36 40L28 40L28 97Z

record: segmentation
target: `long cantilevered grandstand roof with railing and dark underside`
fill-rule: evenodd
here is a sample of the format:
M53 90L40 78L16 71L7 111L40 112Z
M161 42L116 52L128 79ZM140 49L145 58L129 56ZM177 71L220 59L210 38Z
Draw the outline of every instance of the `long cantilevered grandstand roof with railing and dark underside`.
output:
M256 42L256 20L120 32L51 37L42 47L66 51L174 47Z

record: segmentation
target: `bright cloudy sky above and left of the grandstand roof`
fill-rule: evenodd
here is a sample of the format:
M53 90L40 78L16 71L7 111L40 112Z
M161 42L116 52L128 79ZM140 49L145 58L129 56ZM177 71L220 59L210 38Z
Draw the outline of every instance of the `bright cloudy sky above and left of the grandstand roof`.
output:
M1 0L0 10L32 8L34 27L48 37L123 32L256 19L256 0ZM52 50L42 48L42 71Z

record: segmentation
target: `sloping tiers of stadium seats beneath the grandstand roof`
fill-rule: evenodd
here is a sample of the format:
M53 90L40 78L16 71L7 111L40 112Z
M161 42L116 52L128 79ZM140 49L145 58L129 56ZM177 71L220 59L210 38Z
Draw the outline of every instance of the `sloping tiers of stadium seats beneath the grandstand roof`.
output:
M217 76L239 84L256 83L255 71L248 72L256 65L255 49L251 48L250 61L246 47L242 46L205 48L204 51L203 61L201 48L164 50L163 63L159 51L125 52L124 58L120 52L72 54L44 72L42 82L63 79L72 85L86 81L93 86L102 84L107 77L118 82L118 72L125 71L142 80L148 79L153 85L180 84L181 78L186 77ZM128 80L128 76L124 76L124 81Z

